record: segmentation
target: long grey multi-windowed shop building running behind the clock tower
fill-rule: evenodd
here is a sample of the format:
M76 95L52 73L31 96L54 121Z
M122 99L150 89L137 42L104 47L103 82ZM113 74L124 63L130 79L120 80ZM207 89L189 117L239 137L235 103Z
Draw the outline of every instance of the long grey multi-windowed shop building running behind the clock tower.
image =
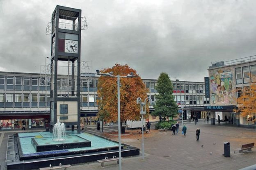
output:
M67 75L58 75L57 96L67 97L61 89L70 88ZM149 89L148 97L153 111L155 86L157 79L142 79ZM194 114L203 118L205 112L200 111L208 106L210 99L205 97L204 82L171 81L174 99L178 107L183 107L183 119L190 120ZM95 74L81 75L81 110L80 119L85 125L96 125L98 106L96 100L98 77ZM76 90L75 90L76 91ZM176 118L181 119L181 113ZM160 119L149 115L152 122ZM49 127L50 121L50 77L36 73L0 72L0 127L4 129Z

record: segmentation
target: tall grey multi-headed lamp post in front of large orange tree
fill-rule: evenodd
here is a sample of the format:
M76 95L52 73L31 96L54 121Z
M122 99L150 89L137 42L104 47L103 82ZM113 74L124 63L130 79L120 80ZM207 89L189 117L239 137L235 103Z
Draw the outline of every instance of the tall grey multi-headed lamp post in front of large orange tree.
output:
M139 77L133 75L133 72L127 76L120 76L120 75L112 75L113 72L110 73L101 73L100 70L96 70L97 75L102 76L109 76L109 77L117 77L117 107L118 107L118 151L119 151L119 170L122 169L122 162L121 162L121 121L120 121L120 77Z

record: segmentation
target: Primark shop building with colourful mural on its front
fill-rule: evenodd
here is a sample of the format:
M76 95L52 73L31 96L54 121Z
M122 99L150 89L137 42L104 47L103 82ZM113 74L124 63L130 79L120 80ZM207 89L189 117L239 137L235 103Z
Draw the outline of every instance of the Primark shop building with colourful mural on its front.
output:
M204 111L211 113L211 124L218 120L215 114L218 112L222 114L223 121L227 119L233 125L255 127L254 113L242 117L234 109L238 106L238 97L256 82L256 56L213 63L208 73L209 94L206 95L210 95L210 106L205 107Z

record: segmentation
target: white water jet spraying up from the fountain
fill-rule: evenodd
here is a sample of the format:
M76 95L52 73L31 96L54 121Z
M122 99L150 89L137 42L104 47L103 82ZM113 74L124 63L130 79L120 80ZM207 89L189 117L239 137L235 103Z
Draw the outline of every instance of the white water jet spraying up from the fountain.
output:
M59 122L59 119L57 120L57 123L55 123L53 127L53 141L64 141L66 140L66 131L65 131L65 124L62 122Z

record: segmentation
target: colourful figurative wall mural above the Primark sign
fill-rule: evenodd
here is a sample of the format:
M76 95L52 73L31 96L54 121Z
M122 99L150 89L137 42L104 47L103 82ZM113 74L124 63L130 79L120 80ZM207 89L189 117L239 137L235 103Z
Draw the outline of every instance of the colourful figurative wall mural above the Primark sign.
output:
M209 70L211 104L235 105L232 70L231 68Z

